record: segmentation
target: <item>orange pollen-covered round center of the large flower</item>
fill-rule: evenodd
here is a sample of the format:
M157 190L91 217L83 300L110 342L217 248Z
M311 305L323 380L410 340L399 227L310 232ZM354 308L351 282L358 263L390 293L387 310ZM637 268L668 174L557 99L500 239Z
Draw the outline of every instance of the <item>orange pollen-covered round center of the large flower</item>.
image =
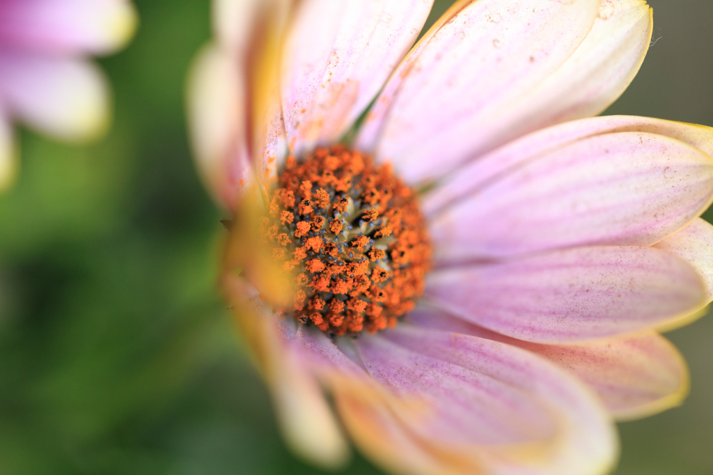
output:
M341 145L287 158L260 233L297 291L285 315L333 335L394 327L424 291L431 244L416 193Z

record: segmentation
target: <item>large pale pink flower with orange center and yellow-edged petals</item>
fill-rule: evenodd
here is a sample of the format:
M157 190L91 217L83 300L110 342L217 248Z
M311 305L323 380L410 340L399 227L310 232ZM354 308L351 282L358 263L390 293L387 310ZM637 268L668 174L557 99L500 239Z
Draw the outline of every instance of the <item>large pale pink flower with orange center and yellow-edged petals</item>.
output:
M687 393L660 331L713 300L713 129L591 117L645 1L461 0L411 47L431 3L215 1L188 109L223 289L316 464L607 473L612 422Z

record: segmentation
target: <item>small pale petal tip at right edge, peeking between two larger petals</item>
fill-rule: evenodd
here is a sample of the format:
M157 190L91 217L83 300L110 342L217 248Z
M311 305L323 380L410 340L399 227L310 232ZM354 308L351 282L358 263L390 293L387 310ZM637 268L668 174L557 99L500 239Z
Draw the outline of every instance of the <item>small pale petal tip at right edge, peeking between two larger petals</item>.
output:
M698 218L655 247L672 252L693 265L703 278L706 305L713 301L713 225Z

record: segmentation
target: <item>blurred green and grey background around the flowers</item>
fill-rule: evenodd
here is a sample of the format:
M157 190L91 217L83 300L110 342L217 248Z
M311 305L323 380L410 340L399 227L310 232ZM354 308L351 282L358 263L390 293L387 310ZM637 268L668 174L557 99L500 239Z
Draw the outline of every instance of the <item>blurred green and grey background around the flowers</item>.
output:
M73 147L22 131L0 195L0 474L322 473L282 445L215 286L226 216L198 183L183 110L209 1L135 3L138 35L101 60L111 133ZM655 44L607 113L713 126L713 2L649 3ZM668 336L691 395L620 425L617 475L713 474L713 317ZM342 473L381 472L355 455Z

